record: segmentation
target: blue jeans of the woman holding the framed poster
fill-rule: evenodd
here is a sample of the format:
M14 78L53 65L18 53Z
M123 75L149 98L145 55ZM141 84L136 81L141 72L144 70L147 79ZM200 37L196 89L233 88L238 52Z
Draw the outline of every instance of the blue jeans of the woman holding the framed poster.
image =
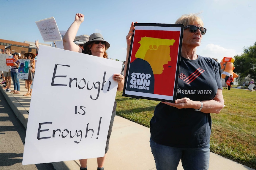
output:
M157 170L177 170L181 159L184 170L208 170L210 144L200 148L175 148L160 145L150 139L151 152Z

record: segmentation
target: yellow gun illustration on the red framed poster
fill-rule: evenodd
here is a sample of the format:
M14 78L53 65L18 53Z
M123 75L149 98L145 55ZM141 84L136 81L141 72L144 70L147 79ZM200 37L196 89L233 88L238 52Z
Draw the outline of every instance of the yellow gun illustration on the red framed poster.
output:
M162 38L152 38L152 37L142 37L138 42L140 43L140 48L135 54L136 58L144 59L146 52L150 50L157 50L160 45L163 46L173 46L175 43L174 39L162 39Z

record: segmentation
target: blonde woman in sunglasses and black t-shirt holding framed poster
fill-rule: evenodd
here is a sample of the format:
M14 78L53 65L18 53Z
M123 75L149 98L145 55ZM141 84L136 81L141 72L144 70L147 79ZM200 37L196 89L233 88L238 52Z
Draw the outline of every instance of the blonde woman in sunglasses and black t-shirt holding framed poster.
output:
M175 24L184 25L177 97L162 101L150 121L150 146L157 170L206 170L210 157L210 113L224 107L219 66L211 58L196 54L206 28L197 14L182 15ZM134 23L126 36L127 59ZM127 66L126 66L127 67ZM126 69L125 69L126 70Z

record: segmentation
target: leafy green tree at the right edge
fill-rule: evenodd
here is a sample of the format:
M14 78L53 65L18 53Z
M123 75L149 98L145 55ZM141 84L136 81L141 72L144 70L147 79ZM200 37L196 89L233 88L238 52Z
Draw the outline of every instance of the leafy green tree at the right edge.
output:
M244 82L245 77L256 80L256 42L253 46L244 48L244 53L234 58L235 72L239 75L240 81Z

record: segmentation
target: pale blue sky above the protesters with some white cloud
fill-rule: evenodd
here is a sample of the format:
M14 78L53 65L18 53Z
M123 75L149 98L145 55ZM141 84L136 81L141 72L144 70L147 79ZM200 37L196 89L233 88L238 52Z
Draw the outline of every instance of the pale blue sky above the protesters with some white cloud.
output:
M182 14L198 13L207 32L197 54L210 58L233 57L256 42L255 0L0 0L0 38L12 41L39 39L35 24L54 17L59 30L67 30L76 13L86 15L77 35L98 32L110 43L109 58L124 61L131 22L175 23Z

